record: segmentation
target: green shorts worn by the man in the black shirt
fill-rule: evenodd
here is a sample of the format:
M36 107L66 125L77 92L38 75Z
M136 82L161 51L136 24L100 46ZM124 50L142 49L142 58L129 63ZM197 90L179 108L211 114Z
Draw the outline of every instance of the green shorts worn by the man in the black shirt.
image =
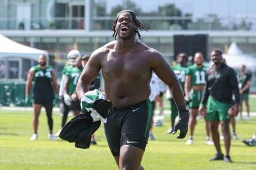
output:
M223 103L218 100L215 100L210 95L207 103L206 120L209 120L209 121L230 120L230 117L227 115L227 111L231 106L232 106L231 104Z

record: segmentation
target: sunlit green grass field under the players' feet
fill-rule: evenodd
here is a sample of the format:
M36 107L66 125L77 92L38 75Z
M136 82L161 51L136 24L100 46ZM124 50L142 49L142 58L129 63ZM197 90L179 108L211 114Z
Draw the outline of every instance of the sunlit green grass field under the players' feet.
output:
M252 100L251 100L252 101ZM166 103L166 101L165 101ZM164 104L167 105L168 103ZM255 105L254 105L255 107ZM167 109L167 108L166 108ZM256 112L256 111L254 111ZM61 117L53 113L54 132L59 130ZM71 117L69 117L71 119ZM234 163L209 162L214 156L214 146L206 146L204 121L198 120L194 144L187 146L176 135L164 134L169 128L169 115L164 125L154 127L156 141L148 141L142 165L147 170L160 169L256 169L256 147L248 147L240 139L251 138L255 133L256 116L250 121L237 121L239 140L231 141L231 158ZM97 146L77 149L74 143L50 141L47 139L48 126L45 112L39 118L39 139L30 141L32 111L11 111L0 109L0 169L118 169L108 149L103 125L96 132ZM224 152L224 141L221 140Z

